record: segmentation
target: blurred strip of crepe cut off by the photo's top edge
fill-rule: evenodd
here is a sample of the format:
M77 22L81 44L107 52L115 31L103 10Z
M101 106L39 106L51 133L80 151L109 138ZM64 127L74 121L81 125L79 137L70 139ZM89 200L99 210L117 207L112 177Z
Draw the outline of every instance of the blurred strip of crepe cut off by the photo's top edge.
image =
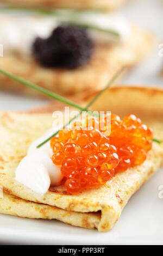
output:
M81 9L115 9L127 0L1 0L2 3L15 4L26 7L54 7L54 8L81 8Z

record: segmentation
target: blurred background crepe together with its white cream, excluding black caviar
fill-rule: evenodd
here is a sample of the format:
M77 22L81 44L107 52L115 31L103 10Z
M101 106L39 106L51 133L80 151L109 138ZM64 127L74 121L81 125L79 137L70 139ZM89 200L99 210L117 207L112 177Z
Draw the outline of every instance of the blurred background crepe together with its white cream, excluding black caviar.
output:
M55 20L53 15L41 16L38 13L23 15L21 13L17 16L4 14L0 17L0 41L4 41L4 56L0 59L0 68L52 92L65 96L76 95L77 99L83 99L94 92L99 92L122 66L127 66L129 69L140 63L152 50L153 35L141 26L133 25L121 14L93 11L78 14L66 10L64 14L73 15L75 22L86 20L85 24L91 26L97 20L97 27L109 28L111 31L105 32L106 36L103 38L104 32L96 31L95 35L96 29L88 29L89 36L92 36L93 32L91 40L94 47L90 59L84 65L70 70L68 68L47 68L39 63L33 52L30 52L33 41L38 35L46 38L47 34L53 31L53 26L54 28L58 26L58 20ZM108 27L106 22L108 22ZM117 37L116 33L118 33ZM10 92L42 97L42 94L2 75L0 76L0 88Z

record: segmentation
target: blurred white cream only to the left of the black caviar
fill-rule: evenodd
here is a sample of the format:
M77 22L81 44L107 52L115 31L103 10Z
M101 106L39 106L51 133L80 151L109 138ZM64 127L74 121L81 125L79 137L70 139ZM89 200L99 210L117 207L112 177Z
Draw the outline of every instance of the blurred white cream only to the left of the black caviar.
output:
M48 17L1 15L0 44L4 54L14 52L28 57L35 38L46 38L56 26L56 21Z

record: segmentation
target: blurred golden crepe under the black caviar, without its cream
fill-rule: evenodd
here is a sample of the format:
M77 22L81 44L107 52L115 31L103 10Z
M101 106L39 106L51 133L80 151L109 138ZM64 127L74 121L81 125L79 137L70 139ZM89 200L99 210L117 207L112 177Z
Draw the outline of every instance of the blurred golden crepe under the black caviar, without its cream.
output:
M152 45L153 36L133 26L127 42L96 45L89 63L75 70L46 69L33 58L24 59L14 53L5 53L4 57L0 58L0 68L52 92L84 99L85 96L106 86L122 66L127 65L129 68L139 63L149 53ZM0 75L0 89L44 96L3 75Z

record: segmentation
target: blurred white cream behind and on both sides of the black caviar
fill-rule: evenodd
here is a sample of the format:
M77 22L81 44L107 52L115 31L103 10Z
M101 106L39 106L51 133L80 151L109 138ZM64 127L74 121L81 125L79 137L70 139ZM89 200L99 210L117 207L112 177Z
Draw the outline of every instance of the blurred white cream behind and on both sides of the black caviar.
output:
M63 16L64 14L64 16ZM32 44L37 36L47 38L57 27L60 21L66 21L68 13L62 13L62 17L52 16L27 16L1 14L0 23L0 44L3 45L4 54L16 52L23 57L28 57L32 53ZM126 41L130 35L129 22L120 14L102 14L91 11L82 13L72 13L72 20L89 22L100 28L112 29L120 34L119 38L89 29L89 34L93 40L100 42Z

